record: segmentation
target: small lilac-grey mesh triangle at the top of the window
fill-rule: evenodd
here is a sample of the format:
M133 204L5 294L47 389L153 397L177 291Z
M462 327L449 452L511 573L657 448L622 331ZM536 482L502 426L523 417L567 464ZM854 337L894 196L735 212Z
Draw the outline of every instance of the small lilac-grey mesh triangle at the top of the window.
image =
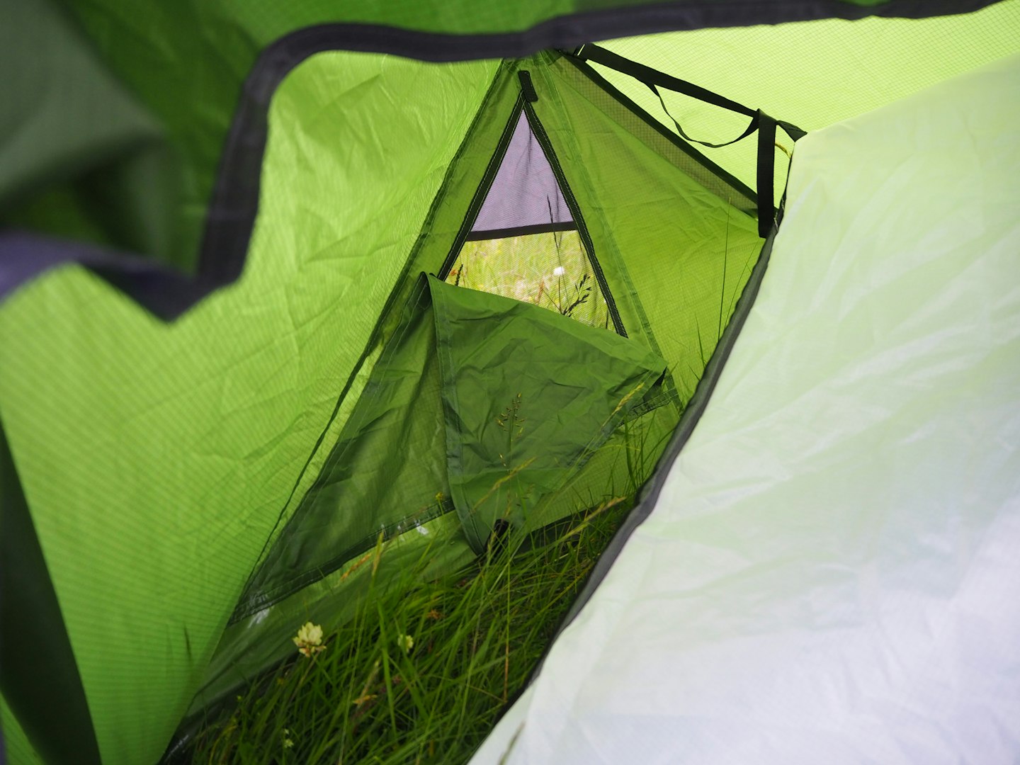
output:
M500 169L474 219L472 232L570 223L553 168L521 112Z

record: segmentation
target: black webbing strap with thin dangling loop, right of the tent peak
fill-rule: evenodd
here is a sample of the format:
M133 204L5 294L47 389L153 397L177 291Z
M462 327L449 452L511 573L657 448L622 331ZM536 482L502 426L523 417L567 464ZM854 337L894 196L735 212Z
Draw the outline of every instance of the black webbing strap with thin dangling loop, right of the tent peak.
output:
M593 61L611 69L615 69L616 71L632 76L634 80L648 86L648 88L659 99L659 103L662 104L662 110L666 112L666 116L668 116L676 126L676 132L681 138L690 143L700 144L701 146L705 146L710 149L718 149L721 146L729 146L730 144L735 144L737 141L743 141L757 131L758 235L763 238L768 236L769 231L772 228L772 224L775 222L773 186L775 183L776 128L782 128L782 130L786 132L786 135L788 135L794 141L797 141L807 135L804 131L790 122L770 117L761 109L750 109L744 104L740 104L736 101L731 101L724 96L720 96L718 93L713 93L712 91L706 90L705 88L697 86L694 83L688 83L685 80L674 78L664 71L653 69L650 66L638 63L636 61L631 61L628 58L623 58L623 56L619 56L612 51L606 50L605 48L600 48L598 45L583 45L573 55L581 60ZM734 138L732 141L726 141L720 144L713 144L708 141L699 141L698 139L694 139L688 136L680 126L679 121L677 121L677 119L669 113L669 109L666 108L666 102L662 98L662 93L659 91L660 88L665 88L666 90L673 91L674 93L680 93L684 96L696 98L699 101L704 101L707 104L712 104L713 106L718 106L722 109L734 111L737 114L745 114L751 117L751 122L745 129L744 133Z

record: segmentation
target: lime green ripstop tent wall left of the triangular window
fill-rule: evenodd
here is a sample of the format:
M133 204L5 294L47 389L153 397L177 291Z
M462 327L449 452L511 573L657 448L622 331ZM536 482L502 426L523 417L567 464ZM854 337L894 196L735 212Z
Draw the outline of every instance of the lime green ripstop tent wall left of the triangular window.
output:
M76 267L0 311L0 406L105 762L153 762L185 711L494 66L293 71L242 280L175 323Z

